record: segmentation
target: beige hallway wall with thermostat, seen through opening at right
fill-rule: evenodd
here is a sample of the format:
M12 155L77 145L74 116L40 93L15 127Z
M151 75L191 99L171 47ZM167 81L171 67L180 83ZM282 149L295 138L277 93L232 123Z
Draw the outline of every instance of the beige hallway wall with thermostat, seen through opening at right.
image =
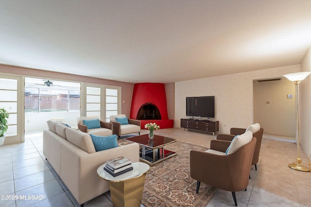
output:
M296 92L293 82L281 80L254 81L254 122L265 134L295 137ZM287 98L292 94L293 98ZM268 102L268 103L267 103ZM295 141L295 138L293 138Z

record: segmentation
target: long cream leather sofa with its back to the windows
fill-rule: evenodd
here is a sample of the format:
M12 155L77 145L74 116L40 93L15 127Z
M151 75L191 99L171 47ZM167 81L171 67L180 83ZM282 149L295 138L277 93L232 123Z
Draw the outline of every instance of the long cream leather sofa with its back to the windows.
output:
M85 202L109 191L108 182L97 175L97 168L119 156L139 161L139 145L132 143L95 151L89 134L48 121L43 131L43 154L77 202Z

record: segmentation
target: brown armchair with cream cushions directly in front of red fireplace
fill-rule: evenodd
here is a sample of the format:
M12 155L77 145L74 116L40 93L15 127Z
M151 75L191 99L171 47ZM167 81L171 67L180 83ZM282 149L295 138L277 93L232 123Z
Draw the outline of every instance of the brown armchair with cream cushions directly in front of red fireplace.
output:
M136 119L127 119L129 124L121 125L120 122L116 121L117 118L126 117L125 114L111 115L110 122L112 123L112 133L118 136L120 139L121 135L138 133L140 135L140 121Z

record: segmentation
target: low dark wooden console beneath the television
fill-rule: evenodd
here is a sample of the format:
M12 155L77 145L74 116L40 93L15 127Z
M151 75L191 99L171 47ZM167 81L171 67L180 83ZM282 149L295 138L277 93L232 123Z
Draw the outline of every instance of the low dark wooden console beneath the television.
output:
M199 131L215 132L219 130L219 121L210 121L206 119L180 119L180 127L195 129Z

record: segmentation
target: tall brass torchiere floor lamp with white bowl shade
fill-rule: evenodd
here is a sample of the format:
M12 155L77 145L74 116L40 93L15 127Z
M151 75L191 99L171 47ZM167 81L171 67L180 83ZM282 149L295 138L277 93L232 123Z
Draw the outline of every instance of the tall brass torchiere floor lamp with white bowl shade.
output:
M296 158L296 163L290 163L288 166L294 170L299 170L303 172L310 172L310 168L301 165L302 159L299 157L299 123L298 123L298 84L301 80L304 80L309 76L311 72L299 72L299 73L290 73L284 75L288 80L291 80L295 83L296 86L296 142L297 142L297 152L298 157Z

